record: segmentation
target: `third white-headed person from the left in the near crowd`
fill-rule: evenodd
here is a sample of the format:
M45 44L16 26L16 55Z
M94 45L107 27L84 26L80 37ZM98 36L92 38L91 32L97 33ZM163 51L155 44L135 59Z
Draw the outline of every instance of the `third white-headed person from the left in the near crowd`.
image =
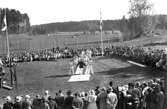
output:
M30 96L26 95L25 100L22 103L22 109L31 109L31 108L32 108L32 105L30 101Z

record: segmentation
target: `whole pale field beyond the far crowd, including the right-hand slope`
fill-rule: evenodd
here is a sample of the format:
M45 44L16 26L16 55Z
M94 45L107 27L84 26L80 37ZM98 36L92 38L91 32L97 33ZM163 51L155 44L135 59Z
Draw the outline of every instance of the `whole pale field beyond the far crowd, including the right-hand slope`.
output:
M167 32L158 31L160 35L139 37L130 41L122 42L119 34L103 33L104 46L142 46L154 48L167 47ZM60 32L48 35L30 36L28 34L9 35L10 51L24 51L32 49L46 49L53 47L89 48L100 46L100 34L83 34L82 32ZM120 41L120 42L116 42ZM6 37L0 36L0 54L5 54Z

